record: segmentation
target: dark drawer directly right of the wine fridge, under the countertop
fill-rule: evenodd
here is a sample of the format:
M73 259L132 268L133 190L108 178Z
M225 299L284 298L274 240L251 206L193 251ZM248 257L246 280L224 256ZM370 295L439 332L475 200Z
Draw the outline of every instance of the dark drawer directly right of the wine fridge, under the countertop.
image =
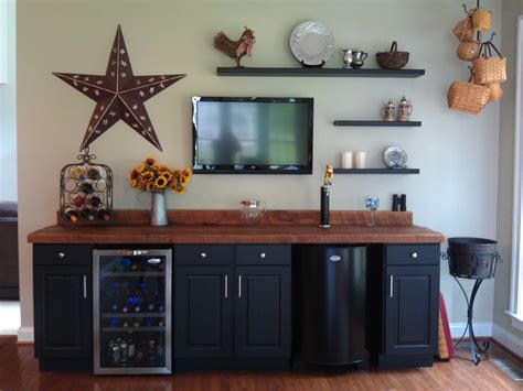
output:
M232 264L233 246L179 245L174 246L174 264Z

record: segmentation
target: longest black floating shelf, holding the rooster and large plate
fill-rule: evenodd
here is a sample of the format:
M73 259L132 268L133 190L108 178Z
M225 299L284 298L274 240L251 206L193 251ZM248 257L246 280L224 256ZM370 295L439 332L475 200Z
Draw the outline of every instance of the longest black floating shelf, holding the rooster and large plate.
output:
M425 69L217 67L218 76L419 77Z

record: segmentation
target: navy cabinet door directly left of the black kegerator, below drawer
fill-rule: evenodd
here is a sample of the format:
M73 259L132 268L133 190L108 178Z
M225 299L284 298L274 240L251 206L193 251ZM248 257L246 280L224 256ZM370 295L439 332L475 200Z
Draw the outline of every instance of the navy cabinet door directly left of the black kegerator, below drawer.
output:
M290 268L236 268L236 357L290 357Z

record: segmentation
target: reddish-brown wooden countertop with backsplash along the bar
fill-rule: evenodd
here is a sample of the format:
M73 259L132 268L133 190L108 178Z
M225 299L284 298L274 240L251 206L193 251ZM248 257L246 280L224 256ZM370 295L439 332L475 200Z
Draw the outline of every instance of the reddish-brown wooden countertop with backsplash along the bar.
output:
M28 236L32 243L440 243L442 233L413 225L409 211L331 211L319 227L317 210L271 210L244 225L238 210L170 210L169 225L152 227L147 210L115 210L108 224L64 224Z

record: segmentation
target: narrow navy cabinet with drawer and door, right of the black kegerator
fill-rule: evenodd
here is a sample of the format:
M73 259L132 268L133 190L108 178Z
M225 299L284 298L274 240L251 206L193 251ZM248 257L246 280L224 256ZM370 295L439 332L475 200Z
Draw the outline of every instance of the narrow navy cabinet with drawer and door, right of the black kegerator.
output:
M439 246L384 247L381 367L431 366L437 350Z

